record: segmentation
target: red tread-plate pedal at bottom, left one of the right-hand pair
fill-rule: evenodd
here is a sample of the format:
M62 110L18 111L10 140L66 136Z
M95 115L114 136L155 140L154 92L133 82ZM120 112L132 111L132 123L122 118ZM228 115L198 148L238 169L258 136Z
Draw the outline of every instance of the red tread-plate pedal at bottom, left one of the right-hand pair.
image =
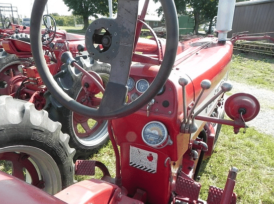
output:
M178 176L175 186L176 197L187 197L190 201L198 200L200 189L200 183Z

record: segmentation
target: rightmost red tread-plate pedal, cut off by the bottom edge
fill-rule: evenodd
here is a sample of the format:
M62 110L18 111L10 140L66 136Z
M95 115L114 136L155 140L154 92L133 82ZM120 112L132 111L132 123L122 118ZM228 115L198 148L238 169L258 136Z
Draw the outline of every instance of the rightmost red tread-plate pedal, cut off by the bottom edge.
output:
M215 186L209 187L207 204L221 203L224 190ZM230 204L236 204L237 196L233 192Z

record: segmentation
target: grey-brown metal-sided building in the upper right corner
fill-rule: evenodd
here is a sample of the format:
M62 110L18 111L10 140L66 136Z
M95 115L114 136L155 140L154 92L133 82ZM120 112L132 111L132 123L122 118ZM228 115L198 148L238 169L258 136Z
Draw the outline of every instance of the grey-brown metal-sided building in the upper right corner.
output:
M274 32L274 0L239 2L235 5L233 33L248 31L248 34ZM267 34L274 37L274 33Z

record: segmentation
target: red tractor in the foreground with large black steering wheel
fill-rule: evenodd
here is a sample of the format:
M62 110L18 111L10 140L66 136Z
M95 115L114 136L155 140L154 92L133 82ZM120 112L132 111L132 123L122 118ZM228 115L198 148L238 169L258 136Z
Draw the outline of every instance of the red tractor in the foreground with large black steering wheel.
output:
M76 160L74 164L69 137L61 132L59 123L48 118L48 112L1 96L0 109L6 119L1 120L1 144L8 145L0 153L20 152L14 160L25 165L27 173L21 173L21 178L32 184L35 180L36 186L54 194L0 172L3 202L236 203L237 168L230 169L224 189L210 187L207 201L199 199L201 184L196 181L201 162L213 153L221 124L238 133L259 112L258 101L250 94L236 93L224 101L224 93L232 88L226 82L233 51L226 40L226 26L231 24L233 12L219 22L218 39L197 37L179 42L174 2L160 1L166 39L157 38L153 31L151 39L142 39L139 35L148 2L138 16L138 1L119 0L116 19L97 19L89 25L85 34L88 54L111 65L106 85L98 73L84 71L70 52L62 53L64 70L83 73L80 86L85 96L75 100L60 87L61 77L54 79L45 60L40 22L46 1L35 1L30 37L39 76L52 97L68 110L97 121L108 120L116 176L112 178L98 161ZM220 14L232 10L228 6L233 8L233 1L220 1ZM102 98L91 100L100 92ZM223 119L224 111L231 120ZM34 164L44 171L28 178ZM103 171L101 179L70 185L74 173L94 175L96 167ZM58 186L64 189L57 193Z

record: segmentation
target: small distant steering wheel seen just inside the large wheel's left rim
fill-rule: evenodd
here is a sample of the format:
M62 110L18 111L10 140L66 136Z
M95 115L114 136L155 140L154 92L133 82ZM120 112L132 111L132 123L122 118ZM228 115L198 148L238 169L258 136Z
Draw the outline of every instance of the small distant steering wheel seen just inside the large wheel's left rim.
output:
M48 20L50 22L48 22ZM56 23L55 20L52 16L46 14L43 16L43 22L44 22L44 26L45 28L45 33L42 35L42 44L43 45L48 45L50 44L56 34ZM51 25L53 23L53 26ZM50 24L50 25L48 25Z

